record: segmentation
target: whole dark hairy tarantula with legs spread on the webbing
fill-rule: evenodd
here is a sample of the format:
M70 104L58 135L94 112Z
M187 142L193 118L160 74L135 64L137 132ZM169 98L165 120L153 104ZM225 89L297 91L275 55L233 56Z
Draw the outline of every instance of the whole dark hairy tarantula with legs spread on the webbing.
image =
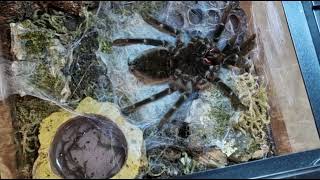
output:
M237 10L240 11L241 9L229 3L224 9L220 23L211 37L191 37L188 42L183 42L183 37L186 33L163 24L147 14L142 14L143 20L149 25L161 32L176 37L175 45L164 40L131 38L116 39L113 41L113 46L133 44L160 46L146 50L134 61L129 62L129 69L135 75L140 74L151 79L165 79L169 82L169 87L147 99L123 108L122 112L131 113L144 104L155 101L174 91L180 91L180 98L160 120L158 128L161 129L192 93L202 90L209 83L216 84L224 95L230 98L233 107L246 109L232 89L224 84L217 75L220 66L248 71L244 56L253 48L255 34L251 35L246 41L236 45L239 35L239 33L236 33L227 41L223 48L218 48L217 46L219 37L231 17L229 16L230 12Z

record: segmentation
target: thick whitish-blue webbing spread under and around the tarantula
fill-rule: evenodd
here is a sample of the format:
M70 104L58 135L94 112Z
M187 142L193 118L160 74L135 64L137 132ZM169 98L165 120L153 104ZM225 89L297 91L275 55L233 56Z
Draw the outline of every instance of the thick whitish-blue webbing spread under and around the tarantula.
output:
M159 32L143 21L140 13L145 10L160 21L183 30L185 40L196 35L205 37L215 30L226 5L225 2L217 1L139 3L133 1L100 2L92 31L98 32L99 39L107 42L118 38L153 38L174 43L173 37ZM78 41L70 45L68 49L70 59L72 59L74 48L79 46L88 33L84 33ZM218 46L223 45L233 34L233 24L228 21ZM150 97L168 87L167 83L145 84L128 71L128 62L151 48L154 47L132 45L111 47L110 52L104 52L100 45L95 52L95 55L108 68L107 75L112 84L113 101L119 108ZM33 67L26 69L30 71L29 74L32 74ZM235 75L231 71L222 70L220 76L227 85L234 87ZM21 75L16 75L17 80L19 77ZM20 82L22 86L29 88L28 93L36 92L32 95L56 101L57 98L53 94L36 89L24 80L21 79ZM229 99L213 85L208 90L190 97L173 115L172 121L166 124L164 130L156 131L159 120L178 98L179 93L175 92L139 108L127 117L132 124L144 131L149 166L142 170L140 177L171 177L209 168L198 165L194 155L187 152L188 148L200 148L201 151L205 151L216 147L229 156L236 151L247 150L252 143L252 138L248 134L241 134L233 129L233 123L239 119L239 112L231 107ZM65 108L70 109L70 107ZM181 124L184 122L190 124L191 134L187 138L182 137L179 133ZM218 162L218 164L215 167L226 165L224 162Z

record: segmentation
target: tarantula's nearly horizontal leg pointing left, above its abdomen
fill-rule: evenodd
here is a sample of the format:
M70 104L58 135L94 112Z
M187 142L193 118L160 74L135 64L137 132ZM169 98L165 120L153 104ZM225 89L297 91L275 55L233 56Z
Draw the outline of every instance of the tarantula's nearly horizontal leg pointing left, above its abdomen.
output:
M152 46L169 46L169 42L157 39L116 39L112 42L113 46L129 46L133 44L145 44Z

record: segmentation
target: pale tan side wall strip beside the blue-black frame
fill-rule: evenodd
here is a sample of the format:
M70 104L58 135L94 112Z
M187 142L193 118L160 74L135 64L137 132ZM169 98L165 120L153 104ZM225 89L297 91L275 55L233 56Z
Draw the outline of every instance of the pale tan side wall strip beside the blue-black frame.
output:
M241 2L257 34L254 64L264 77L277 154L320 147L281 2ZM251 12L251 13L250 13Z

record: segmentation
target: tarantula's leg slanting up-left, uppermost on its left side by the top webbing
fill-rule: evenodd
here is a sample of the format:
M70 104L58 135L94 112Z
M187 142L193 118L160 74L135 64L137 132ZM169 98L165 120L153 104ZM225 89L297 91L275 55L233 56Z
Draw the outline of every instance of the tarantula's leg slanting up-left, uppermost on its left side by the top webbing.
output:
M167 24L161 23L160 21L156 20L155 18L149 16L146 13L142 13L141 16L146 23L150 24L152 27L158 29L161 32L170 34L171 36L174 36L174 37L176 37L177 35L180 34L179 30L177 30Z

